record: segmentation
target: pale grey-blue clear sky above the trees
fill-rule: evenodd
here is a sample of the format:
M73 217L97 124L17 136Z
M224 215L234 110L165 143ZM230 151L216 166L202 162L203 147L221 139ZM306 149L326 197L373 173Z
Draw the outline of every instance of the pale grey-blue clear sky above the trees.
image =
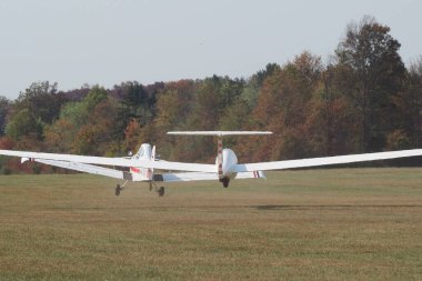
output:
M213 74L249 78L303 51L326 61L365 14L422 56L418 0L0 0L0 96L32 82L112 88Z

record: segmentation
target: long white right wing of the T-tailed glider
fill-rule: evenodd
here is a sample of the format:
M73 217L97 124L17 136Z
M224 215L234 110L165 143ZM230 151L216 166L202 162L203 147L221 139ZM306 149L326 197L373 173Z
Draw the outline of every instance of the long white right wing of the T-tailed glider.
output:
M234 168L234 172L248 172L248 171L257 171L257 170L263 170L263 171L283 170L283 169L293 169L293 168L344 164L344 163L353 163L353 162L385 160L385 159L405 158L405 157L419 157L419 155L422 155L422 149L375 152L375 153L364 153L364 154L350 154L350 155L340 155L340 157L310 158L310 159L285 160L285 161L261 162L261 163L247 163L247 164L237 164Z

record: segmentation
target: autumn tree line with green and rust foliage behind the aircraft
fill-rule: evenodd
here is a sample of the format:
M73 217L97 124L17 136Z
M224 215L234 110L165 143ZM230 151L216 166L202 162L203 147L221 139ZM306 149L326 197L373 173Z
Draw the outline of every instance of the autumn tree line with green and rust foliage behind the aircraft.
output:
M389 27L364 17L346 27L329 62L304 51L248 79L72 91L34 82L14 101L0 98L0 148L114 157L150 142L169 160L213 161L214 140L165 136L171 130L274 132L227 139L241 161L420 148L422 57L406 67L400 47ZM0 159L0 172L18 168Z

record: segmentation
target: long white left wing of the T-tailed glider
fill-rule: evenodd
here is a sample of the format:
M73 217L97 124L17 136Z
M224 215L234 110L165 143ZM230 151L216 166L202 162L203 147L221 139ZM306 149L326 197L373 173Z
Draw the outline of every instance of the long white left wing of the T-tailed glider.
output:
M160 169L168 171L191 171L191 172L215 172L214 164L198 164L170 161L149 161L127 158L108 158L108 157L86 157L73 154L59 153L42 153L31 151L0 150L0 154L10 157L21 157L30 159L58 160L67 162L87 163L87 164L103 164L119 167L140 167L150 169Z

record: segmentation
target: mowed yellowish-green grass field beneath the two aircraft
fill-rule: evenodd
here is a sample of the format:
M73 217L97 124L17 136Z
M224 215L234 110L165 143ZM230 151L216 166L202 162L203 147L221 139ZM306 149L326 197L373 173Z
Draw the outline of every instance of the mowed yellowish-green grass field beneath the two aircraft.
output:
M0 177L0 280L422 280L422 169Z

